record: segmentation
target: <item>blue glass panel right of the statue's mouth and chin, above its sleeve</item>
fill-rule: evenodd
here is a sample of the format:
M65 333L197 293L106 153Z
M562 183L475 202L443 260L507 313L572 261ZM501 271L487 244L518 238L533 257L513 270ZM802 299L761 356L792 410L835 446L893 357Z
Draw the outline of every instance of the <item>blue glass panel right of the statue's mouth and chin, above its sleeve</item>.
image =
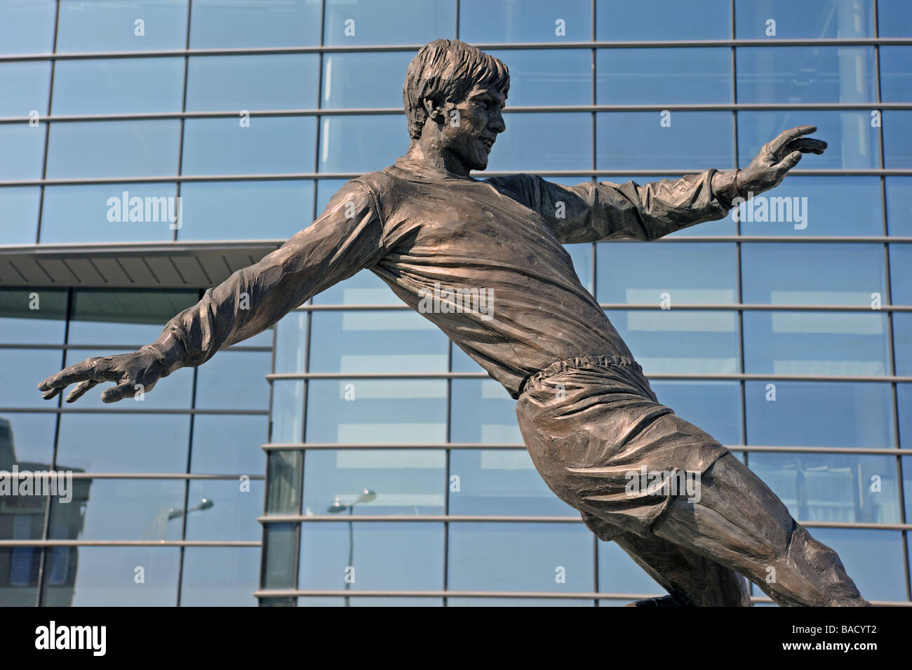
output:
M497 136L488 170L585 170L592 165L590 119L589 114L562 112L505 114L507 128ZM568 129L573 131L568 134Z

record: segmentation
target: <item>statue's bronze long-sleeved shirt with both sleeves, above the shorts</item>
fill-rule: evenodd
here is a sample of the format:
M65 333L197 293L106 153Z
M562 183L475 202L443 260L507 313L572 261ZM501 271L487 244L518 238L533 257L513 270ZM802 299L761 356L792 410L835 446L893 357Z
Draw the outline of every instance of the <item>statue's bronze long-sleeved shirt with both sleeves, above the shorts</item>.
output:
M400 158L350 180L311 226L206 291L153 347L166 371L198 366L369 268L518 397L572 356L631 356L579 282L564 243L655 240L725 216L734 170L640 186L476 180Z

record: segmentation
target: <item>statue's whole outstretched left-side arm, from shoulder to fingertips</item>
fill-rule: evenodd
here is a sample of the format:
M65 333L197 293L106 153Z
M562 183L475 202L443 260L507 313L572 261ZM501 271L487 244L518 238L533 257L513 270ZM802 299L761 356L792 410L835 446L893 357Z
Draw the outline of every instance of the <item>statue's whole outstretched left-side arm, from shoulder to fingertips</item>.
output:
M310 296L377 263L383 253L374 196L357 180L349 181L313 225L207 290L198 304L172 318L155 342L130 354L88 358L47 377L38 389L50 399L78 383L67 402L105 381L118 385L101 394L105 402L149 391L174 370L199 366L219 349L264 331Z

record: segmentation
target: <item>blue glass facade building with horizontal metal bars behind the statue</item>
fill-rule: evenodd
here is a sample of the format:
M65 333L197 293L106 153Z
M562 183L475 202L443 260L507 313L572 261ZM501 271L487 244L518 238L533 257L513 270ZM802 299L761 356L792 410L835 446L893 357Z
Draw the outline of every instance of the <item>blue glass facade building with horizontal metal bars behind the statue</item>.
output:
M0 605L663 593L547 489L503 387L368 272L141 401L36 391L404 154L405 71L438 37L510 67L490 174L644 183L818 126L826 153L737 215L567 250L659 400L868 600L909 604L906 0L0 0L0 470L73 481L0 496Z

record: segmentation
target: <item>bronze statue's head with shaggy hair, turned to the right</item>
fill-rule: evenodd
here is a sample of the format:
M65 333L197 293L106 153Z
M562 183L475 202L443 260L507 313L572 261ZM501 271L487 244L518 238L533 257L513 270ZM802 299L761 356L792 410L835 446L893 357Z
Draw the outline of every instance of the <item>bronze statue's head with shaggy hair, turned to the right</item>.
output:
M510 73L497 58L458 39L422 46L409 64L402 101L413 140L449 152L469 170L488 167Z

